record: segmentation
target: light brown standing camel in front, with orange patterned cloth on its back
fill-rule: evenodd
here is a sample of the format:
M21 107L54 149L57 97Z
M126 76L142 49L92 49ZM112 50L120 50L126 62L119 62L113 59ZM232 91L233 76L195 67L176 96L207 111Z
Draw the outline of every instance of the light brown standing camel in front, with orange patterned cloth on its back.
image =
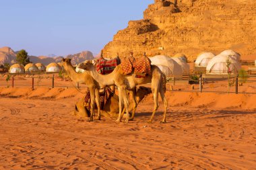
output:
M79 65L79 68L89 71L90 75L92 75L92 77L100 84L101 87L105 87L107 85L117 85L119 89L119 117L117 118L117 122L121 121L123 104L125 105L125 110L127 114L125 121L129 122L129 110L128 110L129 102L126 94L126 89L133 90L135 89L136 85L146 84L146 83L151 83L152 93L154 95L154 110L152 112L152 116L149 122L152 122L154 115L159 107L158 93L160 93L160 96L164 103L164 116L163 116L162 122L163 123L166 122L166 112L167 112L168 102L164 95L165 80L163 79L164 76L162 71L160 71L158 67L152 65L151 75L148 75L145 78L136 78L134 74L131 76L125 76L123 74L123 71L120 65L117 66L112 73L108 75L100 75L100 73L96 71L96 68L94 67L94 64L92 64L91 60L86 60L85 62L82 62Z

